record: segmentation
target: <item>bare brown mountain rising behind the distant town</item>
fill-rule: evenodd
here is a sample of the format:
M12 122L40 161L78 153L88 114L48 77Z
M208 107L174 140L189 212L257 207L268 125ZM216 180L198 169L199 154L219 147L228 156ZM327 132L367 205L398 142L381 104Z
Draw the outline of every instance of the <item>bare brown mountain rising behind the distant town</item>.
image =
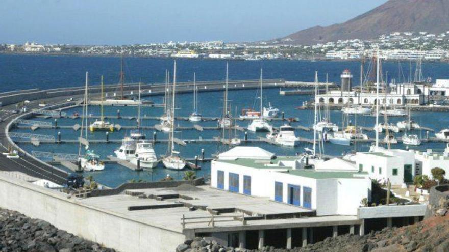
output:
M389 0L344 23L315 26L282 39L296 44L316 44L347 39L376 39L392 32L449 31L449 0Z

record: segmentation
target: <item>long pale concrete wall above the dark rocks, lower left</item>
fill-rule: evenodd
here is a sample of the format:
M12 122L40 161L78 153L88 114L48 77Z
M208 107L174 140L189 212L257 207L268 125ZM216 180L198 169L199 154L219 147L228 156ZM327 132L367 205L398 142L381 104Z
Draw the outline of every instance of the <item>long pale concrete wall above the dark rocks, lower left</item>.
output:
M185 235L83 205L50 189L0 175L0 207L43 219L118 251L172 252Z

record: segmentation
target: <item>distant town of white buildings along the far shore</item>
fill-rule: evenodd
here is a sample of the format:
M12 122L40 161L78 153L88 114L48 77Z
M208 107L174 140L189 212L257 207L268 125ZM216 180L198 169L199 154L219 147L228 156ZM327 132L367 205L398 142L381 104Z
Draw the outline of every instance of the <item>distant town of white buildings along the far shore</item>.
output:
M449 31L441 34L404 32L382 35L376 40L339 40L315 45L296 45L290 39L224 43L168 42L135 45L0 44L2 53L54 53L82 55L128 55L137 57L229 59L229 60L360 60L375 54L377 45L384 60L448 61Z

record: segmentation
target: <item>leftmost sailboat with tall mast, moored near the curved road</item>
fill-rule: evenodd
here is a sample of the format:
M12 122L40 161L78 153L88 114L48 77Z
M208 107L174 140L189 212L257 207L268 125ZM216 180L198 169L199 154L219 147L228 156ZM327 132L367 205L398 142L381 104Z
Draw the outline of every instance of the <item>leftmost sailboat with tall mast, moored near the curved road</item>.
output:
M102 171L105 169L105 164L99 160L99 156L96 155L93 150L89 150L89 142L87 141L87 136L88 136L88 131L87 131L87 125L88 125L88 118L87 118L87 107L88 107L88 94L87 94L87 90L88 90L88 82L89 82L89 73L86 72L86 90L84 93L84 106L83 106L83 115L81 118L81 125L84 124L84 119L86 119L85 122L85 129L86 129L86 139L83 139L83 129L81 129L81 135L80 135L80 144L79 144L79 148L78 148L78 162L81 165L81 168L84 169L85 171ZM103 83L103 81L102 81ZM85 142L84 144L86 145L85 148L85 154L82 157L81 156L81 145L82 142Z

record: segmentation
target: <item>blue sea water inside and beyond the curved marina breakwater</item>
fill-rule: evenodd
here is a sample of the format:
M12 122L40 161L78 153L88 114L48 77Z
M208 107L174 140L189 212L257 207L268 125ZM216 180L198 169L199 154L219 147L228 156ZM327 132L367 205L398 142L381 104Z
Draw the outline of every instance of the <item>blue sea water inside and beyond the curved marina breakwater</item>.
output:
M120 72L120 57L81 57L77 55L31 55L31 54L0 54L0 92L7 92L13 90L23 89L53 89L83 86L85 81L85 72L89 72L91 85L98 85L101 75L105 77L105 83L117 83ZM208 80L224 80L226 78L226 63L224 60L201 60L201 59L179 59L177 60L177 80L178 81L192 81L193 73L196 73L197 81ZM415 73L414 62L384 62L382 64L383 77L389 81L395 79L396 82L408 81L410 76L413 79ZM294 61L294 60L269 60L269 61L229 61L229 78L230 80L243 79L258 79L260 69L263 68L264 79L285 79L287 81L314 81L315 71L318 71L319 81L326 81L340 83L340 74L343 70L349 69L354 75L354 85L359 85L360 79L360 62L350 61ZM365 63L365 70L371 68L369 62ZM160 83L165 80L165 71L172 72L173 60L161 58L143 58L143 57L126 57L124 58L124 73L126 82L145 83ZM449 65L441 62L425 62L422 63L423 78L434 82L435 79L449 78ZM279 89L265 89L264 90L264 105L268 102L273 106L279 108L285 113L286 118L298 118L298 122L292 123L293 126L308 126L313 125L313 111L312 110L298 110L296 107L301 106L303 102L311 100L310 95L298 96L283 96L279 94ZM220 117L222 111L222 92L207 92L199 93L198 95L198 111L204 117ZM152 96L146 99L152 100L155 103L163 101L162 96ZM242 108L254 107L258 101L258 93L256 90L239 90L230 91L229 100L231 105L231 112L235 114L240 113ZM180 94L176 99L176 115L187 117L193 110L193 94ZM115 116L118 107L105 107L105 115ZM136 107L120 107L120 114L122 116L136 116ZM89 114L99 115L99 107L93 106L89 108ZM80 108L71 108L67 113L71 115L74 112L81 113ZM160 116L163 113L163 108L143 107L142 115L146 116ZM333 110L330 113L331 121L341 125L342 114L338 110ZM447 113L435 112L413 112L412 119L423 127L428 127L438 132L441 129L449 127L449 117ZM35 120L48 120L38 118ZM124 125L136 125L135 120L127 119L108 119L111 123ZM372 116L352 116L349 119L353 124L372 127L375 125L375 117ZM396 123L405 118L389 118L389 123ZM380 121L383 121L381 117ZM58 125L74 125L81 123L80 119L59 119ZM159 123L157 120L143 120L142 126L154 126ZM237 124L246 127L249 121L237 121ZM207 121L199 123L202 126L216 126L215 121ZM281 126L284 122L272 122L273 126ZM177 121L178 126L192 126L188 121ZM31 132L25 129L13 129L17 132ZM77 139L79 131L75 132L71 129L37 129L36 134L56 135L58 131L61 132L62 139ZM151 138L154 130L146 130L145 134ZM365 132L369 137L374 137L375 132ZM110 139L121 139L129 134L127 130L120 130L110 134ZM157 132L158 139L168 138L168 134L164 132ZM182 130L177 131L175 136L180 139L212 139L220 136L221 131L205 130L199 132L197 130ZM243 138L244 132L231 131L226 132L226 135ZM248 138L265 137L266 133L251 133L248 132ZM401 137L403 133L395 134L396 137ZM434 136L433 131L414 131L421 138ZM313 138L313 131L297 130L297 136ZM89 139L105 139L105 132L89 133ZM384 135L381 134L383 138ZM311 147L311 144L300 143L296 147L281 147L270 144L247 144L248 146L258 146L264 148L277 155L295 155L301 153L304 148ZM102 158L107 158L108 155L113 155L113 151L118 149L120 144L91 144L90 148ZM39 147L33 145L23 144L21 148L28 152L44 151L77 154L77 144L41 144ZM193 158L201 153L204 149L205 156L211 157L222 151L226 151L229 147L220 144L196 144L189 143L187 146L177 146L176 149L180 151L181 155L186 158ZM426 149L443 150L444 143L423 143L420 146L404 146L402 144L392 145L392 148L401 149L419 149L425 151ZM158 155L166 153L166 144L156 144L155 151ZM367 151L369 144L359 144L351 146L338 146L330 143L325 143L321 147L321 151L326 155L340 156L351 151ZM45 160L47 161L47 160ZM209 177L210 163L199 163L201 170L195 171L196 176ZM61 169L66 169L63 166L58 166ZM158 181L167 175L175 179L182 179L184 171L170 171L164 169L162 164L153 170L144 170L141 172L132 171L119 164L106 164L106 169L102 172L85 172L85 176L92 175L99 183L116 187L122 183L130 180L135 181Z

